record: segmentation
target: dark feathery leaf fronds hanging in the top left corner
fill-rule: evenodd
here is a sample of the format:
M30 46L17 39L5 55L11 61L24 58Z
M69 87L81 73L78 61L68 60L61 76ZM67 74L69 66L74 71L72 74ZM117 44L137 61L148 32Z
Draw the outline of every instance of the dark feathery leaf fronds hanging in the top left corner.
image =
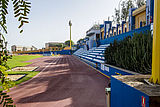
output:
M14 17L18 19L20 25L18 28L20 29L20 33L23 32L22 26L28 22L28 14L30 12L30 2L28 0L0 0L0 27L1 27L1 34L2 31L7 33L7 26L6 26L6 15L8 14L8 4L12 1L13 3L13 10L14 10Z

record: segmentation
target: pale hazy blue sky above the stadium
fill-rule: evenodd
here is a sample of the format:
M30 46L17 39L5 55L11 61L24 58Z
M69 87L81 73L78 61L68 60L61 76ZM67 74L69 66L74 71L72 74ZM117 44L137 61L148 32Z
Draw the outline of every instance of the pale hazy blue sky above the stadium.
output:
M30 0L31 1L31 0ZM69 39L68 21L72 20L72 40L85 37L95 23L103 23L114 14L120 0L32 0L29 24L19 34L19 23L9 7L8 48L12 45L44 47L46 42L64 42Z

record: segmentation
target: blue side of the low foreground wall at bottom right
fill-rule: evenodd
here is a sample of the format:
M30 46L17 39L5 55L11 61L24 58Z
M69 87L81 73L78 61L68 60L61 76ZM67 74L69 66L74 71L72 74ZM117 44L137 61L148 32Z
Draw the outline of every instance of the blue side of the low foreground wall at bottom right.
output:
M149 96L111 77L111 107L142 107L142 96L149 107Z

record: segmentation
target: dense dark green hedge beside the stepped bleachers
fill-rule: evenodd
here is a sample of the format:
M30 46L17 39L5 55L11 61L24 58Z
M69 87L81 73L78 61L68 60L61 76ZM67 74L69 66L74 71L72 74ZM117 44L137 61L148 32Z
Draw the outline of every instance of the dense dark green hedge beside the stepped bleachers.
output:
M150 32L134 34L110 44L105 50L105 62L142 74L151 73L152 36Z

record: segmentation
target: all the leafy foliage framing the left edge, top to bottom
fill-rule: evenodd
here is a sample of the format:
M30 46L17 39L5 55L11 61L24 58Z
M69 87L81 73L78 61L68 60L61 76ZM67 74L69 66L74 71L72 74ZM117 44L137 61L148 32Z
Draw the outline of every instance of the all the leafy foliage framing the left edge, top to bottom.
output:
M12 98L5 91L8 91L14 84L8 79L6 70L9 69L7 65L7 42L5 42L5 36L7 34L7 19L8 4L13 3L14 17L18 19L20 25L20 33L23 32L22 26L28 22L28 14L30 12L31 3L28 0L0 0L0 104L5 106L13 106Z

